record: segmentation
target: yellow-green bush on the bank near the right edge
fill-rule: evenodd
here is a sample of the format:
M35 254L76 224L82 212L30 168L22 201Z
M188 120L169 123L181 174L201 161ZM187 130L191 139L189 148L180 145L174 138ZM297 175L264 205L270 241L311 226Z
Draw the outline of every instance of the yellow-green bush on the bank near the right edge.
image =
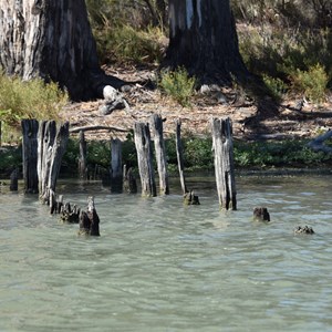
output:
M303 93L311 101L323 101L329 79L320 64L310 66L308 71L297 70L291 75L291 81L293 90Z

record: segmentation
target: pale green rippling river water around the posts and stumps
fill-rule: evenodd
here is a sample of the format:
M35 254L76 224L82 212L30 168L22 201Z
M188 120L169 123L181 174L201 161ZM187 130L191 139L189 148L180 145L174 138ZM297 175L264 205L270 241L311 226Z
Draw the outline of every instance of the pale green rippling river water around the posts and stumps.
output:
M191 207L178 188L144 199L60 181L81 207L95 195L100 238L2 187L0 331L332 331L331 181L239 177L237 211L219 210L209 178L189 181Z

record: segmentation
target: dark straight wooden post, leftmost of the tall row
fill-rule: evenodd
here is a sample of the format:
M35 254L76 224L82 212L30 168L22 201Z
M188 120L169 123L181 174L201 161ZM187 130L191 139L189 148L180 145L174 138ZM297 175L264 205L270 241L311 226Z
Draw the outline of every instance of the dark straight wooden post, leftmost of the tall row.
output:
M39 123L37 120L22 120L22 158L23 180L27 194L38 193L38 133Z

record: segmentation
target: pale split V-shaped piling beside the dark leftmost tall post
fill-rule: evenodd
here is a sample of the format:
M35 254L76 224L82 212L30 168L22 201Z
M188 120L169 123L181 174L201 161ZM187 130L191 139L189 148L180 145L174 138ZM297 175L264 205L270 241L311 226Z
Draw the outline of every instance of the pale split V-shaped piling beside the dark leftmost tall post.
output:
M56 127L54 121L43 121L38 134L38 176L41 199L50 204L50 189L55 193L62 156L69 139L69 123Z

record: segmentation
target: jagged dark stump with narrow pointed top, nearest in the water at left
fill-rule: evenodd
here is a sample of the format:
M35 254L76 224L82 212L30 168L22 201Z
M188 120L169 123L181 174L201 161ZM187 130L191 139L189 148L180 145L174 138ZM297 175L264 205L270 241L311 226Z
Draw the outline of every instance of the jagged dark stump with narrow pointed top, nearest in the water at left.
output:
M94 207L94 198L87 198L86 211L80 214L80 231L79 235L100 236L100 217Z

